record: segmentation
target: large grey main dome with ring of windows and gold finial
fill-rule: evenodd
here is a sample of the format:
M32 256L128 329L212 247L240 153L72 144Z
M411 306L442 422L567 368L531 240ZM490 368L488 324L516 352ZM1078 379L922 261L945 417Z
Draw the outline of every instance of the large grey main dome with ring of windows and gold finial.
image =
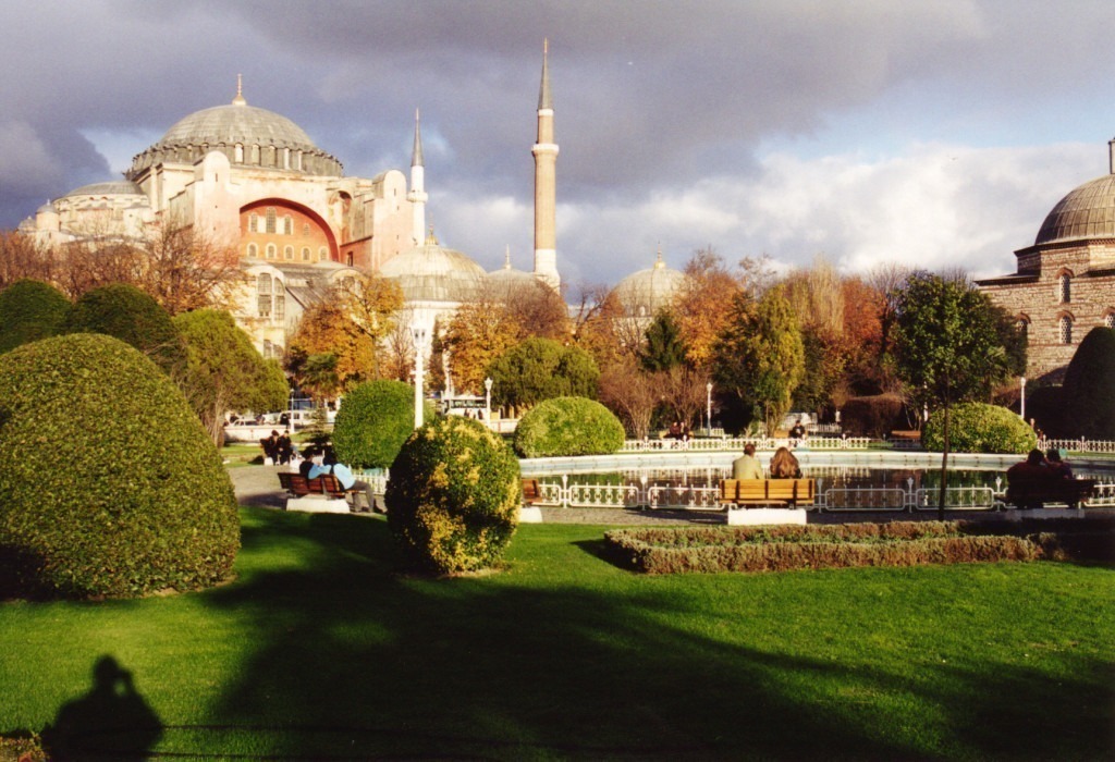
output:
M180 119L162 139L132 159L128 179L164 162L193 164L212 150L232 164L319 176L341 176L336 157L318 148L301 127L265 108L249 106L239 88L227 106Z

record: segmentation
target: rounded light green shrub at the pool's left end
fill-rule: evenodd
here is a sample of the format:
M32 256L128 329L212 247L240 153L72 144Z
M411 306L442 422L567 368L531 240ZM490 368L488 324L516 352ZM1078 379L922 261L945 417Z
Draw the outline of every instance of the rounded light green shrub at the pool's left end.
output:
M623 447L623 424L611 410L583 397L540 402L515 428L523 458L607 455Z

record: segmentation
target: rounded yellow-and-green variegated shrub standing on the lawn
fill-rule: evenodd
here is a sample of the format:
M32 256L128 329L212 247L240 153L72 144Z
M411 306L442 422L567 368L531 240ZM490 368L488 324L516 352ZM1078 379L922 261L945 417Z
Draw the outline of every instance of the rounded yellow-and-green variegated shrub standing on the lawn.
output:
M438 574L494 566L518 522L518 460L484 424L459 416L407 439L387 481L387 522L408 566Z

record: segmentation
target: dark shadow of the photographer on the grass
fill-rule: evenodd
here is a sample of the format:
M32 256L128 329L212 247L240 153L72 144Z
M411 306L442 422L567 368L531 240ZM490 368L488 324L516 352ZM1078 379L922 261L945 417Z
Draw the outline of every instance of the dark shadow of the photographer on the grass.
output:
M136 691L132 673L113 656L93 667L93 687L58 710L42 743L52 760L140 760L163 734L155 711Z

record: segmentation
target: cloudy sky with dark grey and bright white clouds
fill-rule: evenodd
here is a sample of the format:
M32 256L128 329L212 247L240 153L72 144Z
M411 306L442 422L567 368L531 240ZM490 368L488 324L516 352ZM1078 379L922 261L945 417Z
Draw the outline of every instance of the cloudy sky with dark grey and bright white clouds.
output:
M420 107L428 215L489 270L531 266L549 38L574 286L709 244L1005 274L1115 135L1111 0L0 0L0 227L242 74L349 175L406 170Z

